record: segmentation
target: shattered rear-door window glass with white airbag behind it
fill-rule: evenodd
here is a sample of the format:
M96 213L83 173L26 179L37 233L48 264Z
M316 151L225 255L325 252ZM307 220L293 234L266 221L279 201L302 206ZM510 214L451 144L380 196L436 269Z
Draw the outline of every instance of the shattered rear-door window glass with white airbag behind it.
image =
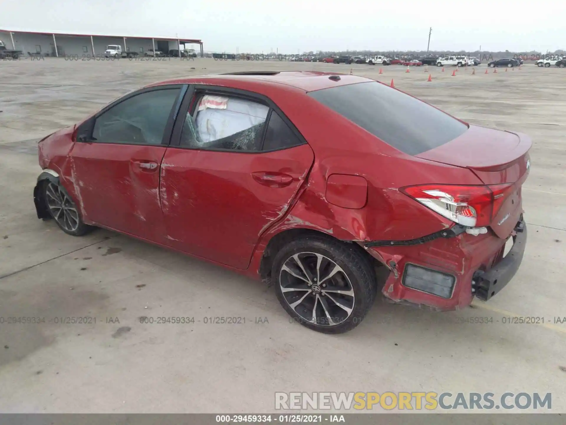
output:
M189 113L181 146L235 151L261 150L269 107L240 97L204 95L196 116Z

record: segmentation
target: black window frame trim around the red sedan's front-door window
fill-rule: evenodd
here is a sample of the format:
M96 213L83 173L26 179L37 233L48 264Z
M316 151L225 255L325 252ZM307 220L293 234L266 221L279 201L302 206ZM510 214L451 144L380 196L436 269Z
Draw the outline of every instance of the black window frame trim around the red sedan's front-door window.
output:
M162 84L160 86L145 87L145 88L141 88L140 90L130 92L130 93L120 97L119 99L114 100L112 103L106 105L104 108L102 108L100 111L98 111L96 114L94 114L91 118L89 118L87 121L85 121L80 126L80 127L84 126L84 130L88 132L88 137L87 137L86 140L77 139L76 142L97 143L97 141L93 140L93 138L92 138L93 131L95 130L96 120L102 114L108 112L110 109L121 104L123 101L131 99L132 97L135 97L135 96L138 96L138 95L142 95L144 93L149 93L149 92L152 92L152 91L159 91L159 90L173 90L175 88L179 89L179 92L177 93L177 97L175 98L175 101L173 103L173 108L171 108L171 111L169 113L169 118L167 119L167 124L165 125L165 129L163 130L163 137L161 139L160 145L141 145L141 144L138 144L138 143L104 143L104 142L100 143L100 145L169 146L170 141L171 141L171 135L173 134L174 122L175 122L176 118L178 117L178 113L180 111L180 108L182 107L182 100L184 100L184 97L186 97L187 93L188 93L188 90L187 90L188 84ZM80 128L78 129L77 133L78 134L80 133Z

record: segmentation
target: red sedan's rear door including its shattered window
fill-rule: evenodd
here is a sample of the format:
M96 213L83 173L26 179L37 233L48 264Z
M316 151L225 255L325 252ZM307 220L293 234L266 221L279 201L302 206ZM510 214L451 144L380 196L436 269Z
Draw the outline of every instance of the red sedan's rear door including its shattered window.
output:
M161 164L169 244L246 269L261 233L305 182L314 154L263 96L199 86L190 97Z

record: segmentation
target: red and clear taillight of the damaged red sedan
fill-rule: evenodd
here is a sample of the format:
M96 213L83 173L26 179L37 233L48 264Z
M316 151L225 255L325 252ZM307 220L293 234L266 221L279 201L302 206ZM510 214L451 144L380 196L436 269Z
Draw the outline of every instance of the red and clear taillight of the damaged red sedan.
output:
M499 212L512 183L489 186L419 185L401 192L454 223L486 227Z

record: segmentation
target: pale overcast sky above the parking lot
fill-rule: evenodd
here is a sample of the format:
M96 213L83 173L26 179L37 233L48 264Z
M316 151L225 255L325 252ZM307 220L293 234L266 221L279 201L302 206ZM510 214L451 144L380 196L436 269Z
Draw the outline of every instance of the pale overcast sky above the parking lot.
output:
M5 0L0 29L201 39L216 52L566 49L566 2Z

